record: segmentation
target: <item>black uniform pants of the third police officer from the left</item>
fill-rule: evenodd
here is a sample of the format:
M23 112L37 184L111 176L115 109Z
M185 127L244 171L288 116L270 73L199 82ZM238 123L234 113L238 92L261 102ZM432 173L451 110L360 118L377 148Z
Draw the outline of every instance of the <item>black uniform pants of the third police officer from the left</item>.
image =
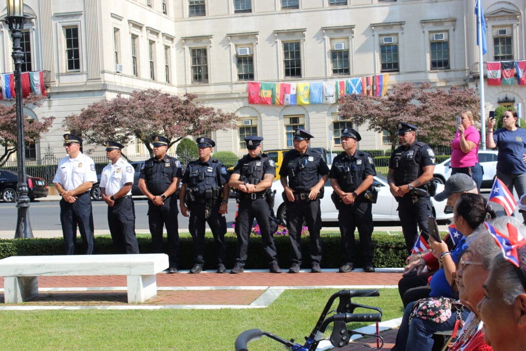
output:
M150 227L151 242L156 253L164 253L163 228L166 226L168 236L168 262L170 268L177 268L179 252L179 228L177 222L177 199L170 196L164 205L154 205L148 200L148 225Z

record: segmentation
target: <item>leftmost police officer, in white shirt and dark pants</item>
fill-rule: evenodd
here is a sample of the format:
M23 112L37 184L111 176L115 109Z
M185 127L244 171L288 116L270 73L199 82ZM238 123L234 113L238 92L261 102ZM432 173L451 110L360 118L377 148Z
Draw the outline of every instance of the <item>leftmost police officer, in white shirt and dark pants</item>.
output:
M58 163L57 173L53 178L60 199L60 224L66 254L75 253L77 226L80 236L86 245L86 255L93 254L95 241L93 237L92 199L89 190L97 183L95 162L80 152L82 138L73 134L64 134L64 147L68 156Z

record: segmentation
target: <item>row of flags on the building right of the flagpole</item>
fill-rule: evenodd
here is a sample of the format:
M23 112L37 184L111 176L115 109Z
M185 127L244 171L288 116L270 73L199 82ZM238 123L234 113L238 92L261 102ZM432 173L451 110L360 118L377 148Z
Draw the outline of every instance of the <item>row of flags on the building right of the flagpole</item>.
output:
M526 60L486 63L488 85L526 85Z

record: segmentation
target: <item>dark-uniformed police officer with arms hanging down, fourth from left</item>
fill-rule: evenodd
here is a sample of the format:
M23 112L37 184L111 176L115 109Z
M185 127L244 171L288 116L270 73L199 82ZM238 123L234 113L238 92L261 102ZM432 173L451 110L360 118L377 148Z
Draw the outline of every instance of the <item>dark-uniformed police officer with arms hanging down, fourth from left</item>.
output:
M190 212L189 229L192 236L194 267L190 273L200 273L205 265L205 223L208 222L217 254L217 273L226 273L226 244L225 233L227 222L225 214L228 209L227 168L210 153L216 143L207 137L196 140L199 148L199 159L191 161L183 176L183 186L179 194L181 214L188 217ZM186 203L186 204L185 204Z

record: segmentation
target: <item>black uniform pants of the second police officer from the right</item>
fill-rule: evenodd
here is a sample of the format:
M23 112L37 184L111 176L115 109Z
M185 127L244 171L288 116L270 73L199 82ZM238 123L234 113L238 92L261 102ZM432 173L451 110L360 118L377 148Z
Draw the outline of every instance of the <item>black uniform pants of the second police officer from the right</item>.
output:
M341 233L342 263L354 263L358 258L355 242L355 229L360 234L360 251L362 265L372 265L372 204L355 201L353 204L342 204L338 213Z

